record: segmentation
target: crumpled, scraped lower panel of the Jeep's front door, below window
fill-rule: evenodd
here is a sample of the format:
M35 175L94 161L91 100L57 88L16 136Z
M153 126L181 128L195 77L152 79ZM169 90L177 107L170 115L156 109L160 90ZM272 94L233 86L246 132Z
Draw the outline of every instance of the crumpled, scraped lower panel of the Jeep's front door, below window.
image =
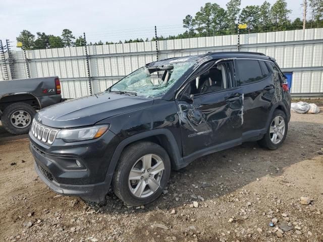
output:
M241 89L194 97L193 103L177 101L183 155L241 139L243 94Z

